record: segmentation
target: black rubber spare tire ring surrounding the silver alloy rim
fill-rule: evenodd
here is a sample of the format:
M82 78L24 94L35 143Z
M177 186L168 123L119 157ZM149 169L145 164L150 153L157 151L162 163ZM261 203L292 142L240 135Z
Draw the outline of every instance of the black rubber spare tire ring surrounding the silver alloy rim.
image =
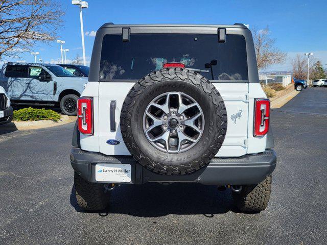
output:
M199 141L189 150L167 153L156 149L143 131L148 104L165 92L184 92L201 106L205 124ZM186 175L206 166L218 153L227 130L227 112L215 86L205 77L183 68L166 68L139 80L129 91L121 111L121 132L131 155L161 175Z

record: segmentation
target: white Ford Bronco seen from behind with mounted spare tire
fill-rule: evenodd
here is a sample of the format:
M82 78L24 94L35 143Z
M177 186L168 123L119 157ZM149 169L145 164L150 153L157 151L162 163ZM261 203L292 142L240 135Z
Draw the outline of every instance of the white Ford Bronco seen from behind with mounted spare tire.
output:
M104 24L78 99L71 163L78 205L120 184L230 187L241 211L269 201L270 102L243 24Z

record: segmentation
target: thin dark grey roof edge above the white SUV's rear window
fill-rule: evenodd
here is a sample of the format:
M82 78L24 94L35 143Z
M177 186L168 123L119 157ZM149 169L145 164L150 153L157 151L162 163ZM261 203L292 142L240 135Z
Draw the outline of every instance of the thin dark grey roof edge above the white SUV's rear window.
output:
M217 28L246 28L245 24L235 23L235 24L114 24L108 22L103 24L100 28L109 27L217 27Z

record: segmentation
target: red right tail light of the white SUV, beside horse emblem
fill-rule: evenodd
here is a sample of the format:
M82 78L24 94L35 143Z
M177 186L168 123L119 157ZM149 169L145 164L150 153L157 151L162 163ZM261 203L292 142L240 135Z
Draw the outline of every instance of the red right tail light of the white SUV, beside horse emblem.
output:
M254 137L264 136L268 133L270 116L270 101L268 99L255 99L254 101Z

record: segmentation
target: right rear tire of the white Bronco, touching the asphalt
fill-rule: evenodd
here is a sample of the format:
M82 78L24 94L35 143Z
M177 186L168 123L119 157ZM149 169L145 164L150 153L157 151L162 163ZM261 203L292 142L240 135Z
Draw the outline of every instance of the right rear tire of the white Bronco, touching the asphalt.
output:
M237 208L246 212L265 210L271 191L271 175L257 185L243 185L240 192L232 192Z

